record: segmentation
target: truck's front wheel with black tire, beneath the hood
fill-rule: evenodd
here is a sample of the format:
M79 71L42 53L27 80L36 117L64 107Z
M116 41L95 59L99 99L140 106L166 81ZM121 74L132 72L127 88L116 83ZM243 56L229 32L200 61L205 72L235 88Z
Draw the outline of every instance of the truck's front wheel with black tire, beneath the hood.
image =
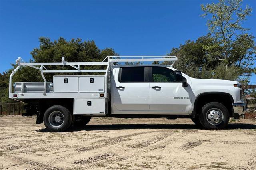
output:
M211 119L208 119L209 117ZM229 121L228 109L222 103L207 103L202 107L201 113L199 115L199 120L202 126L207 129L225 128Z

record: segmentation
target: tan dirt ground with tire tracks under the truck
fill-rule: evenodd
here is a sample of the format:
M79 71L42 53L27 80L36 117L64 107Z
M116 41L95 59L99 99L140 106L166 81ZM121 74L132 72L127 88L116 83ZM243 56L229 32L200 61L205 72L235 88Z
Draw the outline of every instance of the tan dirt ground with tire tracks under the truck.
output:
M36 117L0 117L1 169L256 169L256 119L204 130L190 119L92 118L51 133Z

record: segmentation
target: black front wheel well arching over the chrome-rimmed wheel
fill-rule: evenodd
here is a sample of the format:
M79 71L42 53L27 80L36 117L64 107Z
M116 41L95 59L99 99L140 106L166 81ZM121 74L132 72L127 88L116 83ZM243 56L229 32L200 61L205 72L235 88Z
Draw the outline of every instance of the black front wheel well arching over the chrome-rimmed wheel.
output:
M234 101L232 96L228 93L205 93L198 95L194 104L196 115L200 113L199 111L204 105L210 102L222 103L228 109L230 117L233 117L232 103L234 103Z

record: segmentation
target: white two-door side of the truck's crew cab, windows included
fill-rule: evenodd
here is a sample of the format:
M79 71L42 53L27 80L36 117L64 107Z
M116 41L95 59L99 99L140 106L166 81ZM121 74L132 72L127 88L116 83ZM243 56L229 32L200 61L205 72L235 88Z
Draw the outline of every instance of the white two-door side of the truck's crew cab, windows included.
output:
M165 65L125 65L113 68L113 114L182 114L191 113L192 89L178 81L176 69Z

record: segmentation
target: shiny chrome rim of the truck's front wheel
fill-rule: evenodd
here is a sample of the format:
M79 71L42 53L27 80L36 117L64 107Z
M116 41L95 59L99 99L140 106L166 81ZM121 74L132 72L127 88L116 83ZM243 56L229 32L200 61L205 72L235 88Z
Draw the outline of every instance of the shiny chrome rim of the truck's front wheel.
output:
M206 120L212 125L219 125L223 121L223 113L220 109L212 108L207 111Z

